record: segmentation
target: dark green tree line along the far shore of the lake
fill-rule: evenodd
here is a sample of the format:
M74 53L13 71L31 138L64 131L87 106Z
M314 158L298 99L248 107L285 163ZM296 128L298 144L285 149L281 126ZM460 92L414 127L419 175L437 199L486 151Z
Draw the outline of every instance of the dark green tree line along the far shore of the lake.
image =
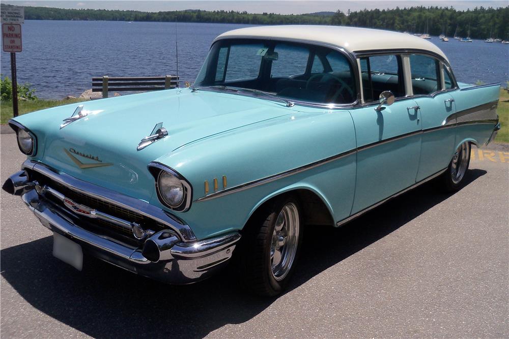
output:
M4 7L6 5L2 5ZM253 14L237 11L165 11L142 12L124 10L60 9L25 7L27 20L106 20L213 22L245 24L323 24L382 28L408 33L445 34L485 39L509 39L509 6L501 8L476 7L458 11L453 7L410 7L395 9L348 10L346 13L321 12L311 14Z

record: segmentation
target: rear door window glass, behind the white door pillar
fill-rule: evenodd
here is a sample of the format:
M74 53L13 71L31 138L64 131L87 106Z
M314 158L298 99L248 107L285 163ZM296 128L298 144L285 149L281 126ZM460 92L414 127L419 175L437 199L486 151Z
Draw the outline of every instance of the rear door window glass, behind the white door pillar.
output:
M439 70L437 59L425 55L410 55L413 94L429 95L440 90Z

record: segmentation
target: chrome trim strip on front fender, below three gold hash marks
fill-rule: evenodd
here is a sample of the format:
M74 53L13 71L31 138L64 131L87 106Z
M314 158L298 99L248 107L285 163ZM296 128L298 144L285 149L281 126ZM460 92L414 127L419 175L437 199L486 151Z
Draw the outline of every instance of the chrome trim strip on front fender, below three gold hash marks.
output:
M217 198L217 197L220 197L220 196L224 196L224 195L228 195L228 194L232 194L232 193L241 192L241 191L250 189L252 187L257 187L257 186L263 185L265 183L269 183L269 182L272 182L272 181L275 181L275 180L278 180L278 179L286 178L287 176L294 175L294 174L297 174L297 173L300 173L300 172L303 172L303 171L307 171L309 169L312 169L312 168L315 168L315 167L318 167L318 166L325 165L325 164L330 163L332 161L335 161L335 160L338 160L338 159L350 156L350 155L354 154L356 151L357 151L356 149L352 149L352 150L340 153L338 155L335 155L335 156L332 156L332 157L329 157L329 158L325 158L323 160L316 161L314 163L310 163L310 164L307 164L307 165L304 165L304 166L301 166L301 167L297 167L297 168L294 168L294 169L291 169L291 170L288 170L288 171L285 171L285 172L274 174L274 175L271 175L271 176L268 176L268 177L265 177L265 178L262 178L262 179L246 182L246 183L243 183L241 185L229 188L227 190L215 192L215 193L209 194L207 196L201 197L199 199L196 199L195 201L196 202L197 201L206 201L206 200L211 200L211 199L214 199L214 198Z

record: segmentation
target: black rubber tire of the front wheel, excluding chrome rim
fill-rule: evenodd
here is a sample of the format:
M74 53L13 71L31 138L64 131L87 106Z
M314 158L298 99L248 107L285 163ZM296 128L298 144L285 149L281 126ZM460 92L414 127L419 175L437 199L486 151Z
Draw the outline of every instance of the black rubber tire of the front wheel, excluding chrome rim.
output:
M293 204L298 211L297 248L284 278L278 280L272 273L271 246L278 215L287 204ZM278 197L261 206L250 218L242 232L243 241L239 253L240 258L238 258L240 265L238 274L240 274L239 278L244 286L261 296L271 297L281 293L295 269L303 238L302 232L302 212L298 200L293 196Z

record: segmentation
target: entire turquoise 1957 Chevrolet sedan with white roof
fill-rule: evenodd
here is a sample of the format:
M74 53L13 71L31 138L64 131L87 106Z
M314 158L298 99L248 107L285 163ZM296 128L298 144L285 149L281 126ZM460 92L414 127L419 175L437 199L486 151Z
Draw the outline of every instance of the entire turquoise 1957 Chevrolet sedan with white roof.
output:
M498 94L458 83L407 34L236 29L190 88L11 119L28 158L3 188L78 269L86 254L186 284L233 258L252 291L275 295L303 225L341 226L435 177L458 190L471 145L500 129Z

